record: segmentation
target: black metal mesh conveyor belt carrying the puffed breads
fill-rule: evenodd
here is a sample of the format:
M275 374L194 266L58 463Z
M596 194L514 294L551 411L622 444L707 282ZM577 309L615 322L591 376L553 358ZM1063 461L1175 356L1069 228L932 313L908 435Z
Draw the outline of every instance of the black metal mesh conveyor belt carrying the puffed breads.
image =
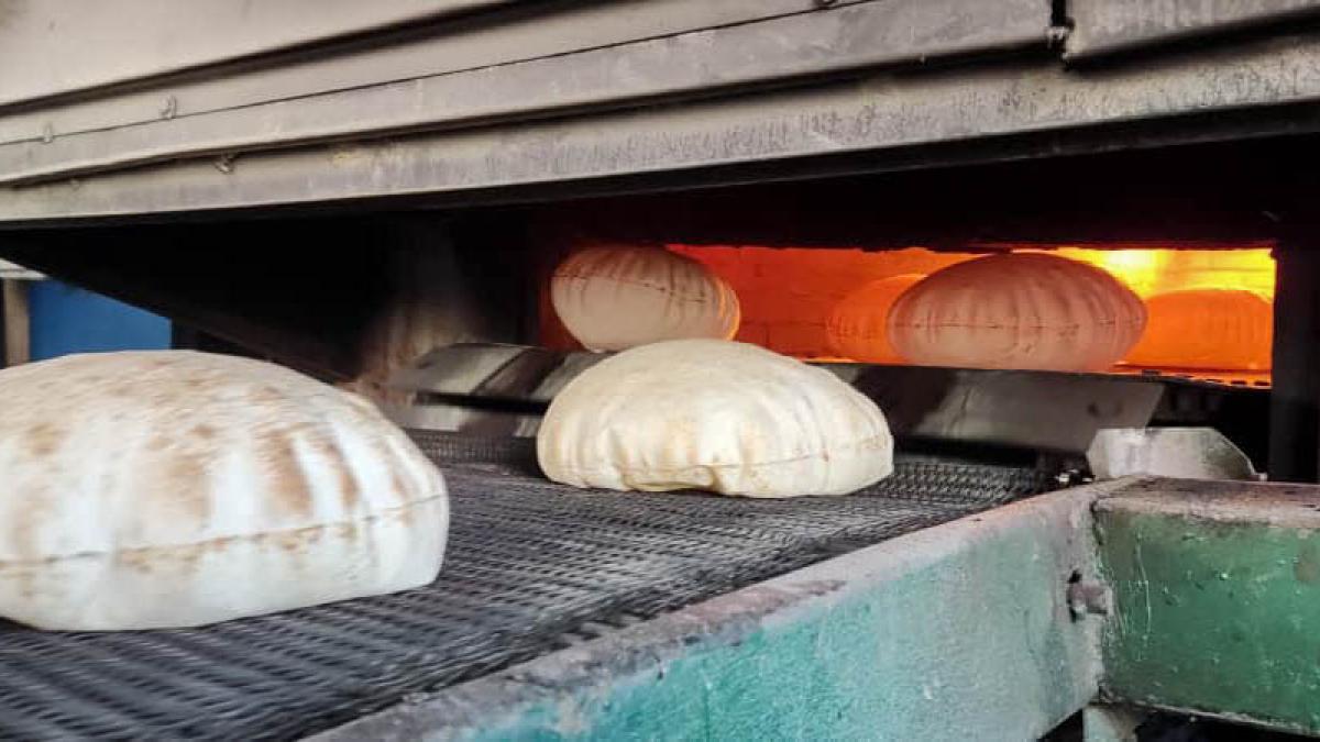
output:
M1030 469L900 458L847 498L582 492L528 473L529 441L417 437L453 498L433 585L199 630L5 627L0 737L294 738L1052 487Z

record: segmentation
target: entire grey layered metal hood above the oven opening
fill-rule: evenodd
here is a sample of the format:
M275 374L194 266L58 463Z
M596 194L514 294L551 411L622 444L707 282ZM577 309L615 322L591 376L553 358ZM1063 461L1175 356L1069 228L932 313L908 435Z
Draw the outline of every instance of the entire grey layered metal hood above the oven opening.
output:
M310 26L66 5L0 18L8 224L1295 133L1316 125L1291 104L1320 95L1320 4L1298 0L397 0L318 7Z

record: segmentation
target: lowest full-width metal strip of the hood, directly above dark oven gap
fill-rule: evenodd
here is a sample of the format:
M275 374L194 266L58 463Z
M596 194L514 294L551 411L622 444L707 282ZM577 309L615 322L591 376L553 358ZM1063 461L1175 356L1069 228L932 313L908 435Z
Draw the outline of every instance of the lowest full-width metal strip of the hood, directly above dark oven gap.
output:
M664 182L744 180L711 166L799 164L820 168L849 154L847 166L902 166L896 157L917 145L995 143L994 151L945 153L935 160L1002 157L999 135L1048 135L1041 153L1092 147L1084 127L1168 119L1170 129L1144 143L1228 136L1189 112L1251 108L1263 116L1282 103L1320 99L1320 45L1315 37L1282 38L1221 49L1156 66L1123 66L1074 75L1048 62L960 67L923 75L874 75L832 86L743 95L735 99L649 107L572 120L528 123L243 156L223 162L181 162L82 181L0 189L0 220L166 214L228 207L322 203L395 195L470 194L510 199L513 186L587 181L609 176L671 174ZM1250 133L1315 131L1304 112L1243 124ZM1173 128L1176 124L1177 128ZM1237 128L1232 136L1242 136ZM1080 144L1072 144L1077 137ZM1142 144L1143 141L1137 141ZM1131 132L1113 145L1131 147ZM1101 140L1100 145L1105 145ZM863 160L862 153L874 158ZM705 169L705 170L698 170ZM762 174L764 177L764 174ZM688 178L688 180L684 180ZM635 181L632 187L643 187ZM562 195L557 187L556 194ZM478 195L465 195L474 202Z

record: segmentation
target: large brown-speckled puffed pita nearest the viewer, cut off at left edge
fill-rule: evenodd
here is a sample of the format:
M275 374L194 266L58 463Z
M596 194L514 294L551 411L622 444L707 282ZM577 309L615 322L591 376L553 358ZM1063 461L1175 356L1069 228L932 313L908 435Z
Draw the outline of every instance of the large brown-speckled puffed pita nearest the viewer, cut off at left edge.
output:
M425 585L440 471L371 403L257 360L0 371L0 615L197 626Z

